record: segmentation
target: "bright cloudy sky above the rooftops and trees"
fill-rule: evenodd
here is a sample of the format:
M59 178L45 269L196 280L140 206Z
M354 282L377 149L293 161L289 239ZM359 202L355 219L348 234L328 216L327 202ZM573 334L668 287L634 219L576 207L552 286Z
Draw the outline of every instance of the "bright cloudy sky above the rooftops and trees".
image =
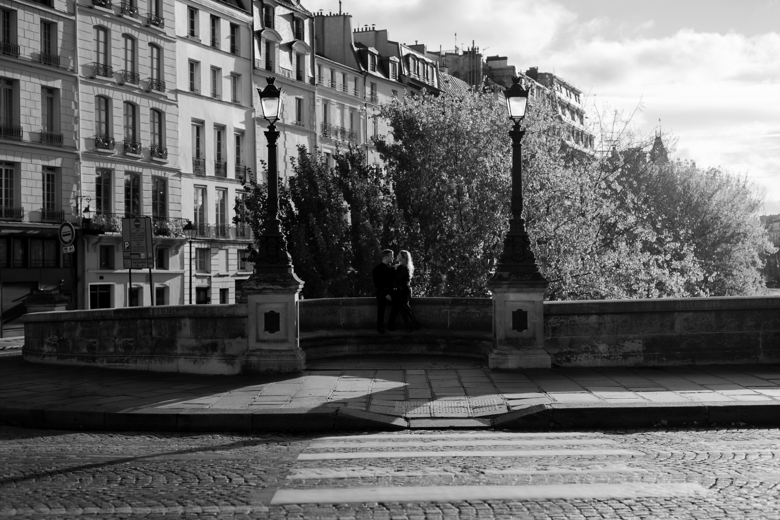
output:
M339 12L339 0L302 4ZM673 157L747 175L780 213L780 0L342 0L342 11L395 41L474 41L520 71L555 73L583 90L591 122L617 110L639 133L673 136Z

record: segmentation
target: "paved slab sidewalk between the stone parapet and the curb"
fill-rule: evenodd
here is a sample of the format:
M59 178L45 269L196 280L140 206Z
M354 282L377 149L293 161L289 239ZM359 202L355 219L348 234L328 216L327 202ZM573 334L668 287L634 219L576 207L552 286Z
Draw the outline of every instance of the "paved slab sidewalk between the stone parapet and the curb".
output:
M0 402L101 409L368 409L391 416L493 416L542 403L752 404L780 400L780 366L489 370L446 356L314 361L280 376L207 376L0 363Z

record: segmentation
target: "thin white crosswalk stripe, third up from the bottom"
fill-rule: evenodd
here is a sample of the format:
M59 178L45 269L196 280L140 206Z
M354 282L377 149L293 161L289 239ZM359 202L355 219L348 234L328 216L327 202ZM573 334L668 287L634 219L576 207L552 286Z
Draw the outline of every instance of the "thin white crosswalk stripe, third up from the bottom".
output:
M642 456L631 450L512 450L512 451L353 451L349 453L301 453L299 461L327 461L340 458L417 458L417 457L577 457L588 455Z

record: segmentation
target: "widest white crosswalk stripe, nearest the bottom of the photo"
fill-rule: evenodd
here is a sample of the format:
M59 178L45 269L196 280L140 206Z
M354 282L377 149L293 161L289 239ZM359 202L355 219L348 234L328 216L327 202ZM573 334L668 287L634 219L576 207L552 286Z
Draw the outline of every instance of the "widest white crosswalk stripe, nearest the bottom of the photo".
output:
M690 497L711 491L698 483L555 484L550 486L398 486L278 490L271 505L488 500L620 500Z

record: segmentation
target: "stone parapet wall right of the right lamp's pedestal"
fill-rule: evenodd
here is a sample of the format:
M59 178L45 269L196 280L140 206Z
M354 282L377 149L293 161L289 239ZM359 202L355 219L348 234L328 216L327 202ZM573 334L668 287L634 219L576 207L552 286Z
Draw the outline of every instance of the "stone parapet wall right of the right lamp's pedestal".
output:
M780 298L545 302L544 336L558 366L780 363Z

